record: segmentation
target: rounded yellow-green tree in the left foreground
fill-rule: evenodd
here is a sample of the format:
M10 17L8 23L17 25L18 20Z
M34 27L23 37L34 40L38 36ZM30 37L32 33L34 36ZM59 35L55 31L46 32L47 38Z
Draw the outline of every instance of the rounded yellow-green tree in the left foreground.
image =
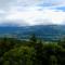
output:
M2 64L32 65L34 48L18 47L4 53ZM8 61L8 62L6 62Z

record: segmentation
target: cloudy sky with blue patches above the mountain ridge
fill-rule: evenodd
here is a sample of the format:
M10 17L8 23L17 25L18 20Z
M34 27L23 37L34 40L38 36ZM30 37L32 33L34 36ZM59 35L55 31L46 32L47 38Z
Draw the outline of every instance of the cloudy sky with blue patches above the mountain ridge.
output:
M0 0L0 25L65 25L65 0Z

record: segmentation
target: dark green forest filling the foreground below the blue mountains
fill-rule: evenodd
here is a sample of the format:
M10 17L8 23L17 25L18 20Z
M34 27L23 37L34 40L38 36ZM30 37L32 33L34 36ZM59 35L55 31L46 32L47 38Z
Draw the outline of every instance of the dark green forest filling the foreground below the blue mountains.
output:
M0 65L65 65L65 38L43 41L0 38Z

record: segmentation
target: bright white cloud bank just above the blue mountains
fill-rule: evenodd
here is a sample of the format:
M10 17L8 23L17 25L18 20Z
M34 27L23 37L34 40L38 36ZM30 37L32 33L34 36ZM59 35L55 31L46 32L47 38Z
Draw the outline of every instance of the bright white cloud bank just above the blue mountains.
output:
M41 10L28 8L27 11L10 10L4 20L0 17L0 23L16 23L18 25L37 25L37 24L63 24L65 12L53 10Z

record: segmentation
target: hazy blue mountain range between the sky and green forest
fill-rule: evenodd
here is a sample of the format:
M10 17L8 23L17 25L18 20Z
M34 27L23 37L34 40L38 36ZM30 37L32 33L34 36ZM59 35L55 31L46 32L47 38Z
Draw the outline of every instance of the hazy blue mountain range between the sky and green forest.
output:
M37 38L56 40L65 35L65 25L36 25L36 26L0 26L0 37L29 38L35 34Z

